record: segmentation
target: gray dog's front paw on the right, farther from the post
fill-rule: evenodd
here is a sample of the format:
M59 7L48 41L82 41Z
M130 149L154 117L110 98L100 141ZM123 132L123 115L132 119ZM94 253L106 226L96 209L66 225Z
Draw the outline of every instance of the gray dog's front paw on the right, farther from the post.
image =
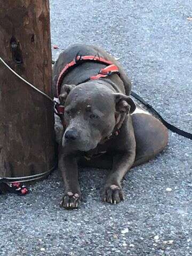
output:
M110 185L103 189L102 199L110 204L118 204L124 200L123 190L120 186Z

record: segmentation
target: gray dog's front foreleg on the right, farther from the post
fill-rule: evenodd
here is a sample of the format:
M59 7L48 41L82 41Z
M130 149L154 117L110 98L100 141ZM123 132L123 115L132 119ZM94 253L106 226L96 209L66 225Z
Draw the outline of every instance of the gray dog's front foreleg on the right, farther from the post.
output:
M135 159L135 151L124 152L114 156L113 169L109 173L102 190L102 199L105 202L116 204L124 200L121 180L131 168Z

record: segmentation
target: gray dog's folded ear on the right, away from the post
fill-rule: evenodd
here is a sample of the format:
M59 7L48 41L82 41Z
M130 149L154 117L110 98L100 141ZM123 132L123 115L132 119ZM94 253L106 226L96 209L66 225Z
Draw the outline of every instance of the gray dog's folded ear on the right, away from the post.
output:
M131 97L123 93L114 93L115 102L116 102L116 111L124 114L132 114L136 109L136 105Z

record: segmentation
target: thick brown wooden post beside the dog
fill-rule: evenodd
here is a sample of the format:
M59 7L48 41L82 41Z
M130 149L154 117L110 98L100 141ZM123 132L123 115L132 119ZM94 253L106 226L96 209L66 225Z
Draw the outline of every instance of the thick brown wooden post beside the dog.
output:
M0 1L0 57L52 97L49 0ZM0 61L0 178L55 164L52 103Z

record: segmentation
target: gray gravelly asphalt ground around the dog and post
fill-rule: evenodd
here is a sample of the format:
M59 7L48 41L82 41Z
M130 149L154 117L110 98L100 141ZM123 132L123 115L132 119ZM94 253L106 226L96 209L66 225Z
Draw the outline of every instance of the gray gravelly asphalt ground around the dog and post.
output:
M190 0L51 0L57 59L73 43L103 46L119 58L133 90L167 120L192 132ZM0 255L192 255L191 141L170 132L169 146L123 181L126 200L100 201L105 170L81 170L84 202L60 209L55 171L25 197L0 197Z

